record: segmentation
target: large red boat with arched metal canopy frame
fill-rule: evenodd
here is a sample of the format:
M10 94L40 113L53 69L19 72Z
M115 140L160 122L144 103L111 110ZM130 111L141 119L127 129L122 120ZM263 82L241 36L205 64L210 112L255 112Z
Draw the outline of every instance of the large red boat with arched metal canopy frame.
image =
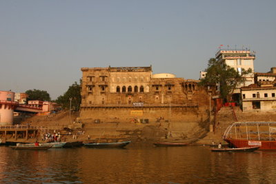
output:
M230 147L255 147L276 150L276 122L235 122L223 136Z

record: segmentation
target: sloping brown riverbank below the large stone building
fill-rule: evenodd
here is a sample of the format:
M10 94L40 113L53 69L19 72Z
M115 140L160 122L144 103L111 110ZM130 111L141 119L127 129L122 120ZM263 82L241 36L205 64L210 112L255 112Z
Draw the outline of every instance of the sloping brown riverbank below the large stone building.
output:
M204 138L208 131L197 122L154 122L154 123L125 123L125 122L110 122L110 123L78 123L78 112L59 112L48 116L32 116L26 119L22 124L32 126L48 127L48 131L52 133L60 132L61 139L66 141L88 141L90 140L111 142L130 140L133 143L139 141L170 141L170 142L185 142L190 144L210 144L213 140L197 143ZM72 123L70 123L70 119ZM71 135L64 130L64 127L72 128ZM72 135L77 135L77 139L72 139ZM220 139L221 140L221 139ZM219 139L215 142L219 142ZM34 140L35 141L35 140ZM40 139L41 141L41 139Z

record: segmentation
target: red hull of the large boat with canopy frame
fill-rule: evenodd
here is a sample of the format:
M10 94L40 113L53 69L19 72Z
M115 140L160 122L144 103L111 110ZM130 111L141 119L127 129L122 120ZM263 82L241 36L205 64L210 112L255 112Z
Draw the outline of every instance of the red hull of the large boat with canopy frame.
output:
M259 146L259 150L276 150L276 141L255 141L245 139L225 139L231 147L254 147Z

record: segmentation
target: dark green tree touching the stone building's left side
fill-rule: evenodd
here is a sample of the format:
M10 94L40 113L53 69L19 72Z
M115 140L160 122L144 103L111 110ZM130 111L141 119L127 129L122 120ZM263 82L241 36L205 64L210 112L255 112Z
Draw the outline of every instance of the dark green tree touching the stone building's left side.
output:
M75 82L70 85L68 90L63 95L57 97L56 102L61 105L62 108L69 109L70 99L71 108L74 110L79 110L79 106L81 105L81 84Z

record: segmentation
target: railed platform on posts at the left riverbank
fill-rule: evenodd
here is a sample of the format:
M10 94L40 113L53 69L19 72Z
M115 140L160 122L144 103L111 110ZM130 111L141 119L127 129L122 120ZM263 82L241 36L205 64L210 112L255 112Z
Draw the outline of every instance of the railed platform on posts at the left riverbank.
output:
M0 125L0 139L5 143L7 139L36 139L48 130L47 127L30 125Z

